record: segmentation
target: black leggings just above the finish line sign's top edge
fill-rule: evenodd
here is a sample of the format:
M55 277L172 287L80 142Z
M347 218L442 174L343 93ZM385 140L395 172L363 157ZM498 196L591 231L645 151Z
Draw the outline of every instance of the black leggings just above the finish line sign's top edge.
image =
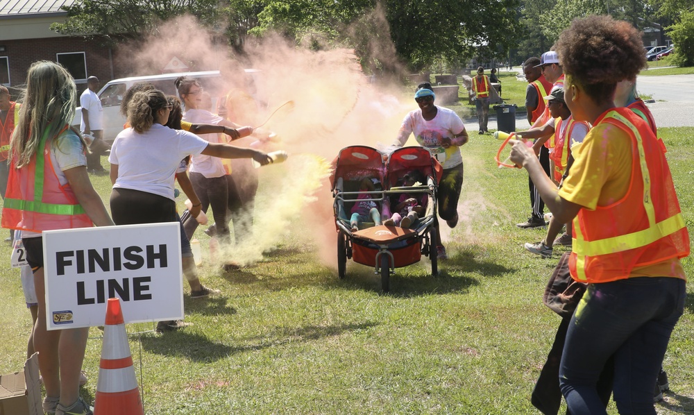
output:
M110 205L116 225L176 221L176 203L158 194L115 187L111 191Z

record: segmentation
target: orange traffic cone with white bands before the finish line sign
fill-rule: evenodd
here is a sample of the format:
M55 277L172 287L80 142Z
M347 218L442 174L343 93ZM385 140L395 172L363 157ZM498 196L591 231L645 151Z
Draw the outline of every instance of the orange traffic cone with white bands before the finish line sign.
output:
M94 414L144 415L118 298L109 298L106 305Z

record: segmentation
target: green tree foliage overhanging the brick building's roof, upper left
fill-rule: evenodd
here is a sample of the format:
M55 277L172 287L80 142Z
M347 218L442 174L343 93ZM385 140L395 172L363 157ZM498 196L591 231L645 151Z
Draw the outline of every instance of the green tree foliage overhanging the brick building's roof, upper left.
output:
M217 0L82 0L63 7L67 19L52 24L51 30L118 42L153 33L160 22L185 14L213 26L219 19L218 4Z

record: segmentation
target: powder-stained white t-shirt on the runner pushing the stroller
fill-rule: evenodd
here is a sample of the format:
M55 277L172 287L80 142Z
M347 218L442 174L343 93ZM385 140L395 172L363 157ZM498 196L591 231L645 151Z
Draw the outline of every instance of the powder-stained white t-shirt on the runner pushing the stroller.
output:
M455 111L437 106L437 115L430 121L422 117L422 110L409 112L400 126L400 134L396 139L396 146L404 146L409 135L414 133L414 138L419 145L428 148L443 165L444 169L450 169L462 164L460 147L452 145L444 149L441 144L443 138L453 139L465 128L462 119Z

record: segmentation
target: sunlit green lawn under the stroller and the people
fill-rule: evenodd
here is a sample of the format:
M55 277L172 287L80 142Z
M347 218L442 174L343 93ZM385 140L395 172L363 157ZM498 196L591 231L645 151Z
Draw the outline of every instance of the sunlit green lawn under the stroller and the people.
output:
M661 137L693 230L694 128L663 128ZM146 413L537 413L530 393L559 324L541 295L563 248L552 260L523 249L544 231L516 228L529 210L527 174L498 169L492 160L497 146L489 136L475 136L462 149L462 216L448 237L450 260L439 264L439 278L428 275L423 260L397 269L391 292L382 294L373 269L350 261L347 278L339 280L320 254L325 248L335 262L335 241L315 236L322 228L335 239L326 187L314 203L328 214L287 225L260 262L228 273L202 266L203 282L223 295L185 296L186 320L194 325L130 337ZM303 178L291 160L284 166L262 171L260 205L278 193L285 169L294 183ZM108 178L96 177L94 184L108 201ZM9 253L2 244L0 373L22 367L31 322ZM684 266L693 276L693 260ZM657 405L659 414L694 412L692 284L664 363L673 392ZM87 399L94 396L101 350L99 331L91 334ZM609 414L616 413L611 405Z

